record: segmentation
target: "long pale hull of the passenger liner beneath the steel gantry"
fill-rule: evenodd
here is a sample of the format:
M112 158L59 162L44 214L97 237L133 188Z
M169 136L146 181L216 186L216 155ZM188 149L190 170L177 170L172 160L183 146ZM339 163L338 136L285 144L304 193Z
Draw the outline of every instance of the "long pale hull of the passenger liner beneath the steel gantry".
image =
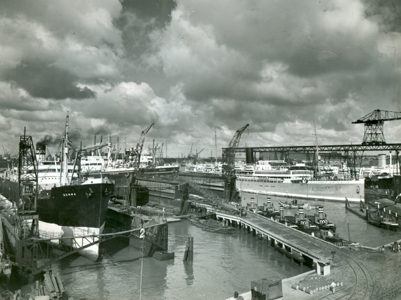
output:
M273 182L263 179L237 178L236 186L241 191L290 196L307 199L359 202L364 200L364 179L355 180L309 180L302 182Z

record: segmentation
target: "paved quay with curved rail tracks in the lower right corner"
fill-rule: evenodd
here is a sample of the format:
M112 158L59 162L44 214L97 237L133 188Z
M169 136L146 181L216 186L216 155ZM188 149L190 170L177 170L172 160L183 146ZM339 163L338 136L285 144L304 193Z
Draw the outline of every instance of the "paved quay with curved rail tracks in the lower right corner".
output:
M246 216L249 218L249 214ZM271 226L272 222L265 222L264 227L270 227L270 230L275 231ZM259 224L263 226L263 223ZM279 227L277 227L279 228ZM298 234L292 234L291 228L283 228L288 231L280 232L279 234L286 234L286 239L298 239ZM302 232L301 232L302 233ZM257 237L255 237L257 238ZM311 240L315 240L313 243ZM264 239L261 242L265 242ZM296 290L291 287L293 283L298 283L305 278L308 273L297 275L292 278L282 279L283 296L278 299L399 299L401 300L401 252L393 252L390 250L389 245L385 246L384 251L376 248L356 246L350 248L339 248L334 245L325 243L322 246L322 240L315 237L304 238L303 246L315 244L312 247L313 251L319 252L318 254L328 257L327 254L331 250L335 250L334 260L330 261L330 274L324 277L330 280L340 280L343 286L336 287L333 294L330 289L314 292L313 294L306 293L302 290ZM320 251L316 249L321 248ZM331 255L331 254L330 254ZM286 257L283 259L287 259ZM312 271L316 274L315 271ZM250 278L249 289L251 289L251 281L259 280L261 278L269 278L269 272L255 274L254 278ZM251 300L251 291L238 291L244 300ZM234 291L233 291L234 295ZM229 298L235 299L234 297Z

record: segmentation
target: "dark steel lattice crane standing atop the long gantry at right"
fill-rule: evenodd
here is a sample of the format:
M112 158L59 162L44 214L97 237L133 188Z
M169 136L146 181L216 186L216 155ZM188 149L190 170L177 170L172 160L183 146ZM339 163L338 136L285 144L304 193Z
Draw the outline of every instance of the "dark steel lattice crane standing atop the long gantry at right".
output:
M365 124L362 144L385 144L383 134L384 121L398 119L401 119L401 112L376 109L352 122L352 124Z

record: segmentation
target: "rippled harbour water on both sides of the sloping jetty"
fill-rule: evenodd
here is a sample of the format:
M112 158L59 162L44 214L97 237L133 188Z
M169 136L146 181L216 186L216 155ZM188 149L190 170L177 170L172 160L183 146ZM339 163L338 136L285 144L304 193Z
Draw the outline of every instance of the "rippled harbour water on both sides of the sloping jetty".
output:
M243 193L243 204L251 197L263 205L267 196ZM271 196L276 208L279 201L285 200ZM353 241L375 247L400 238L400 231L374 227L346 212L343 202L300 202L308 202L312 207L323 205L328 220L336 224L336 232L345 239L350 235ZM296 212L296 209L285 210L286 215ZM313 212L305 210L308 215ZM193 261L183 262L188 235L194 239ZM175 252L174 259L159 261L144 257L142 261L140 251L116 238L101 244L100 259L96 262L71 255L54 267L61 272L66 289L75 299L139 299L142 262L141 299L226 299L234 291L240 294L249 291L253 280L287 278L310 270L243 230L237 229L229 235L213 233L188 220L169 224L168 248Z

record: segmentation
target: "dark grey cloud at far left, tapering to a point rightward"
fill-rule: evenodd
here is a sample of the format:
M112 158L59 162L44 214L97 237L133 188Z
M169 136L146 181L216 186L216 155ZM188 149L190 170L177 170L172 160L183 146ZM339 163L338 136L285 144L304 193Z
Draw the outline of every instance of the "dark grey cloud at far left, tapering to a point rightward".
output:
M95 92L88 87L78 87L79 78L45 61L22 61L3 74L3 80L12 81L31 96L53 99L93 98Z

